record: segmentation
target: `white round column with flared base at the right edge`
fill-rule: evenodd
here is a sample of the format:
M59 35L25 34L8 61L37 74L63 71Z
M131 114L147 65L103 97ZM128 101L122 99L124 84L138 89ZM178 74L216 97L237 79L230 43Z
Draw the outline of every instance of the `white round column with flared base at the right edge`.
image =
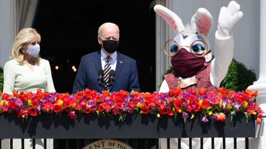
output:
M248 89L258 91L256 100L266 112L266 1L260 1L259 79ZM264 113L264 116L266 113Z

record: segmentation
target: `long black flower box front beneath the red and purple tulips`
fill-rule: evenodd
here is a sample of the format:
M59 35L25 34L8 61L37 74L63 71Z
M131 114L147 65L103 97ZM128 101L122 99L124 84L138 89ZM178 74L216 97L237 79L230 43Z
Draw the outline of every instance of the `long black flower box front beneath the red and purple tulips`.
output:
M190 116L189 116L190 117ZM155 114L127 114L119 121L119 115L77 114L70 119L67 114L40 114L29 116L22 122L16 114L0 114L0 138L254 138L255 116L246 122L244 113L226 114L224 122L209 118L202 122L202 115L193 119L182 114L174 116Z

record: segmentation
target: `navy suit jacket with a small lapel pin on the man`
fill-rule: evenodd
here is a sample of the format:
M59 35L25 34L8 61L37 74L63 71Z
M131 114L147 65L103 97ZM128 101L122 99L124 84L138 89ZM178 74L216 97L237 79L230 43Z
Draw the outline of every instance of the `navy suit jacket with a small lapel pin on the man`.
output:
M98 85L98 72L102 69L101 52L93 52L81 57L80 66L77 71L73 85L73 93L85 88L102 92L103 87ZM103 85L105 85L103 83ZM138 71L136 61L117 51L115 81L110 87L110 92L120 90L140 92Z

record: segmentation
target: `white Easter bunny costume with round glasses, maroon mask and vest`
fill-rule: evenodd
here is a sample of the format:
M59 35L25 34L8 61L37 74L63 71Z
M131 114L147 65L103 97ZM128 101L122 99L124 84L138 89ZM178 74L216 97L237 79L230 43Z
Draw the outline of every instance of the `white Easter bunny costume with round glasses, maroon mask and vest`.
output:
M213 18L205 8L199 8L192 16L191 24L184 26L181 19L172 11L161 5L155 5L154 11L165 19L176 32L171 48L166 51L170 56L174 72L166 74L160 92L169 92L180 86L182 90L216 91L227 74L233 59L232 27L243 16L239 4L231 1L227 7L220 9L218 29L215 32L215 58L212 59L208 36L213 28ZM171 54L170 54L171 53ZM171 148L176 148L178 139L170 139ZM161 148L166 148L166 139L160 139ZM215 148L221 147L222 139L215 138ZM211 148L211 139L204 140L204 146ZM192 139L193 148L200 148L200 139ZM205 148L204 147L204 148ZM181 148L189 148L189 139L181 140Z

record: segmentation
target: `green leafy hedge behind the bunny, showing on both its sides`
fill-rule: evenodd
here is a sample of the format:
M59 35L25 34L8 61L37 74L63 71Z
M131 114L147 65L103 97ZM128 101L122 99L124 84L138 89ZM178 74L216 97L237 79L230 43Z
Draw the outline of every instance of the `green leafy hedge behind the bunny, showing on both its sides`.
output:
M172 67L170 67L165 74L171 72L173 72ZM161 83L164 80L165 74L163 74L161 78ZM234 90L236 92L242 92L250 85L253 85L253 82L256 80L257 78L254 69L248 69L242 62L237 62L236 59L233 58L229 65L226 77L221 82L220 87L228 90Z

